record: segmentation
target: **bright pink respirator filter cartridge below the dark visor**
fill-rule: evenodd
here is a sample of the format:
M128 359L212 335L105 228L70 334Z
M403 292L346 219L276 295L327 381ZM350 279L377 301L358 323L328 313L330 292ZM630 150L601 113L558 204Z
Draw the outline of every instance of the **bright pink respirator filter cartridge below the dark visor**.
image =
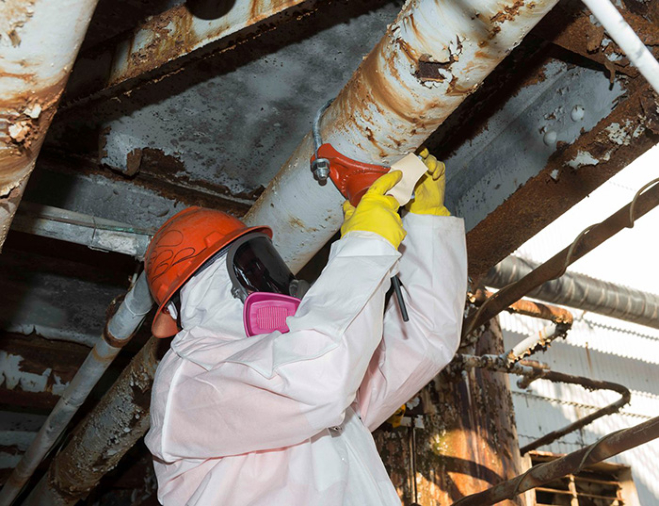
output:
M295 315L301 300L282 294L254 292L246 298L243 309L243 323L248 336L288 332L286 319Z

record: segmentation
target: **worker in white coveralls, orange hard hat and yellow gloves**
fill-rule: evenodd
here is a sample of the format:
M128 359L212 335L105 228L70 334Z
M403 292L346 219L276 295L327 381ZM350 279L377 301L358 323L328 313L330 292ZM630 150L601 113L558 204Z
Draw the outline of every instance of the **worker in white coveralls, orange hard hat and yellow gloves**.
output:
M190 208L156 233L152 330L178 331L146 435L163 505L401 505L370 433L451 360L467 290L463 221L444 206L444 164L423 158L402 221L386 195L399 171L343 205L341 239L301 301L266 227ZM386 304L397 272L407 323ZM265 317L255 332L250 297L286 313L285 328Z

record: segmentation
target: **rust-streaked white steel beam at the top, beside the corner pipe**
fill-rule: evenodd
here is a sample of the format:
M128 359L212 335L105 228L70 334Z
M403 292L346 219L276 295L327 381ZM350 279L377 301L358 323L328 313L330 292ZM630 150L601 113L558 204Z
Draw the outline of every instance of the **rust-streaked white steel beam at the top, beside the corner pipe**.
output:
M269 26L281 22L283 16L277 15L304 1L307 0L236 0L228 5L218 2L213 13L197 12L192 3L183 2L150 16L134 30L80 55L67 89L65 107L84 104L99 92L246 28L256 31L255 25L264 20L268 20Z

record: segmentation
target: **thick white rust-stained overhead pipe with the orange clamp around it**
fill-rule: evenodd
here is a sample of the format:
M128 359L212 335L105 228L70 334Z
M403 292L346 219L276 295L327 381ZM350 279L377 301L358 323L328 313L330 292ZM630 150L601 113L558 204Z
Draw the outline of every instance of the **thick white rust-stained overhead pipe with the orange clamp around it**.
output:
M408 1L324 114L324 142L372 164L416 150L557 1ZM272 228L294 272L341 226L343 197L314 180L312 152L308 133L245 216Z

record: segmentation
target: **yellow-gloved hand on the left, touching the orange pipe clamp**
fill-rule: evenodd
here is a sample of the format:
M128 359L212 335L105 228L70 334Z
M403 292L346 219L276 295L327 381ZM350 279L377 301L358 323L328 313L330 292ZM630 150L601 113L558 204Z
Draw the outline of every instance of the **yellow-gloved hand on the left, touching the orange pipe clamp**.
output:
M398 214L398 201L385 194L402 177L403 173L399 170L383 175L371 185L357 207L351 205L349 201L345 201L341 237L356 230L374 232L387 239L393 247L398 249L407 234Z

